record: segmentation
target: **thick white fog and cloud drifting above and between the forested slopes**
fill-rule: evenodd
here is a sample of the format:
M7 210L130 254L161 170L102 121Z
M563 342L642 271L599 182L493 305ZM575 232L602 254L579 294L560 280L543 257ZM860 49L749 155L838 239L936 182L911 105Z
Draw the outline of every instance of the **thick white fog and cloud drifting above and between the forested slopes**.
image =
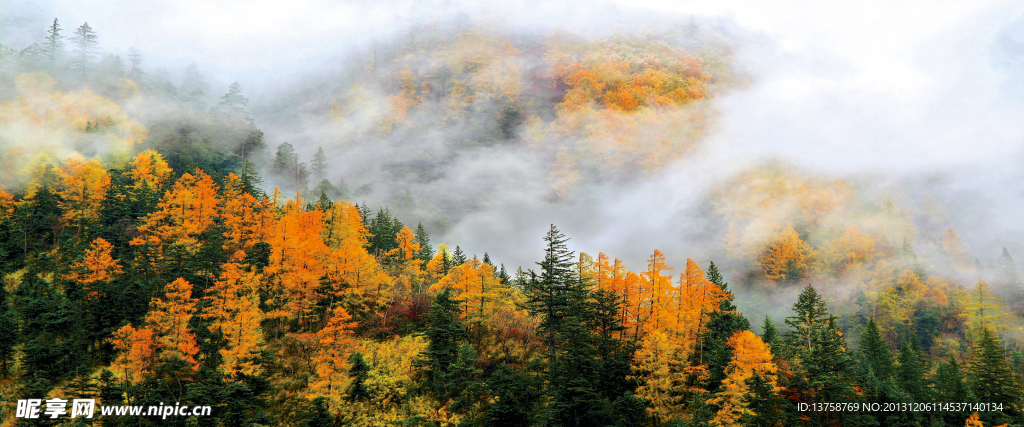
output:
M634 269L653 249L677 268L687 257L706 263L722 238L711 229L709 194L768 162L848 179L866 195L909 195L903 207L911 212L924 197L934 198L979 262L991 264L1001 247L1024 259L1024 5L667 3L4 0L0 42L38 42L58 17L69 33L88 22L106 52L124 55L136 46L150 70L180 76L195 62L213 92L242 84L271 148L291 141L307 160L324 146L332 178L349 185L389 179L375 159L444 158L438 179L381 185L417 194L421 202L401 219L423 221L434 244L460 245L470 255L486 251L510 269L540 259L551 223L571 238L570 249L606 252ZM429 131L351 146L337 129L307 117L310 105L329 97L290 103L338 80L377 46L433 22L518 34L567 29L584 37L697 23L727 40L741 83L710 101L717 114L712 131L686 156L642 179L558 200L545 166L523 150L447 158L451 135ZM391 196L365 198L371 206L394 203ZM449 202L465 210L444 212Z

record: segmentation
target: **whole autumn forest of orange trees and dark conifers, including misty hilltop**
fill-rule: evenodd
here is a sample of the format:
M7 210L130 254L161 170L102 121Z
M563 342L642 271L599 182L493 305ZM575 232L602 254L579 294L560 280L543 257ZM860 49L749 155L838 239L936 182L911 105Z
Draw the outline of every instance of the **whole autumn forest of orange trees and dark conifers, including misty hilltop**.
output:
M934 200L911 214L910 197L767 163L707 196L701 254L627 266L559 224L530 265L438 242L478 203L410 182L453 153L536 156L552 204L685 160L743 87L703 30L419 29L301 102L344 140L305 163L241 85L195 66L174 83L134 49L101 54L102 29L60 26L0 45L3 425L1024 423L1022 277L1006 248L970 253ZM437 134L444 156L409 142ZM338 171L379 144L384 172ZM764 301L784 308L739 308ZM14 417L51 397L213 411Z

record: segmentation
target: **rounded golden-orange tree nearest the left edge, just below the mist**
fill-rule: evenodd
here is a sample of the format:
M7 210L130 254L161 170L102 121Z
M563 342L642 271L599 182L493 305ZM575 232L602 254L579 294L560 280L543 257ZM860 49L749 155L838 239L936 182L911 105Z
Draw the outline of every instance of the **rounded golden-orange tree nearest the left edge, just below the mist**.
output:
M99 219L111 177L99 161L86 161L78 154L60 165L57 177L57 195L63 210L61 219L66 226L76 228L76 236L81 236L84 224Z

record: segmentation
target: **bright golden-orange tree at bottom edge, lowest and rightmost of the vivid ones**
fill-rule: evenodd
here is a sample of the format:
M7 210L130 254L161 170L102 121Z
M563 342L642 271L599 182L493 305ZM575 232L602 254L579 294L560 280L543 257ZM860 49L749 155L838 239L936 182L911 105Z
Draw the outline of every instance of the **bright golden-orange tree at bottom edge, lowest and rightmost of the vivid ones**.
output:
M726 345L732 348L732 361L725 368L726 378L722 381L722 391L708 400L719 408L711 424L738 427L741 425L740 418L757 415L746 404L746 396L750 394L748 380L755 375L760 376L778 391L779 388L775 385L778 368L772 361L771 349L753 332L737 332L729 337Z

